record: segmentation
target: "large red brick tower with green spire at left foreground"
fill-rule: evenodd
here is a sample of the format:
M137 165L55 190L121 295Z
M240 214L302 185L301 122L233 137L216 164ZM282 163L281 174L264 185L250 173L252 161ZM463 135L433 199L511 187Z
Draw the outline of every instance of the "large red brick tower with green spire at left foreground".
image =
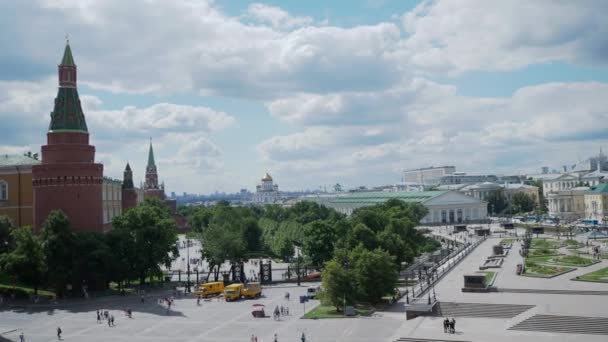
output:
M103 165L95 163L95 146L89 145L69 42L59 65L59 90L42 164L32 168L32 181L37 231L54 209L61 209L76 230L103 231Z

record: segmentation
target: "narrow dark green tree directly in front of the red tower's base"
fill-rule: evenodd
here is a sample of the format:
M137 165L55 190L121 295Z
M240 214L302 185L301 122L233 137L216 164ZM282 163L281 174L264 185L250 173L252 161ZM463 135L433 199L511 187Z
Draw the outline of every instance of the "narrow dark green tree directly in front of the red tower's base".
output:
M49 213L42 227L41 239L48 283L61 296L72 280L73 259L80 257L74 253L74 234L63 211Z

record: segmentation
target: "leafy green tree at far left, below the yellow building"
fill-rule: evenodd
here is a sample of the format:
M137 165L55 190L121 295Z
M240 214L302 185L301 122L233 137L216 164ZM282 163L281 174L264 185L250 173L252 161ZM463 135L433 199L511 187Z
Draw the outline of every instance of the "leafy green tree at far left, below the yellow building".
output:
M0 270L16 282L31 285L38 294L45 273L42 243L30 227L12 229L11 238L15 248L0 255Z

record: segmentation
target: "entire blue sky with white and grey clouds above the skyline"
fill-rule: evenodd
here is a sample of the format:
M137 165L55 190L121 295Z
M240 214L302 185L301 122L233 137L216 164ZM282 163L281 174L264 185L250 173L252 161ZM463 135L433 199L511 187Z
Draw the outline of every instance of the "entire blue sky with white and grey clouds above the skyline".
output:
M608 1L0 2L0 153L38 152L68 35L96 160L167 192L534 173L608 147Z

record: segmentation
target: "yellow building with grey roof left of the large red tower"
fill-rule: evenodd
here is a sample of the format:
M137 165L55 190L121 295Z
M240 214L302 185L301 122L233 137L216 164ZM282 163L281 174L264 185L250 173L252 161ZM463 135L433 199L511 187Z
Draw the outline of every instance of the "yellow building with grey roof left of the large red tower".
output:
M32 165L40 164L34 157L0 155L0 215L18 227L33 224Z

